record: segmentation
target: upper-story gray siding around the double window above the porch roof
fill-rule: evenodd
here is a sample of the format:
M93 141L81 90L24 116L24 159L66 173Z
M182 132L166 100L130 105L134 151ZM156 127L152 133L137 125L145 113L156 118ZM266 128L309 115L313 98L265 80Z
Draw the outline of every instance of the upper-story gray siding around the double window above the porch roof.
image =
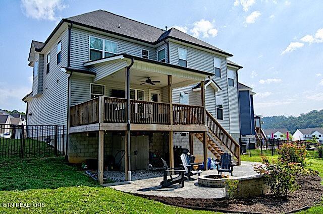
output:
M156 60L156 52L152 47L141 44L116 39L97 33L92 33L82 29L73 27L71 31L71 66L79 69L87 69L83 63L89 61L89 36L98 37L101 39L111 40L118 43L118 54L128 53L134 56L141 57L141 49L149 51L149 58Z

